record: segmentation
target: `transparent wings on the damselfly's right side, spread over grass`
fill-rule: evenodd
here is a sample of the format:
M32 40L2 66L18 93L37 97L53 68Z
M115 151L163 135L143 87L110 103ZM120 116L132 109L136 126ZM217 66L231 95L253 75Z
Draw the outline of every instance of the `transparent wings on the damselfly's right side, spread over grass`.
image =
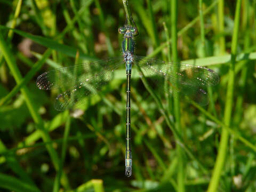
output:
M150 83L163 88L166 92L179 92L188 96L200 105L207 105L207 86L219 83L219 76L212 69L184 63L165 62L142 56L133 56L135 65L139 65L142 73L149 78ZM177 73L173 70L179 67ZM164 86L167 83L167 86Z

